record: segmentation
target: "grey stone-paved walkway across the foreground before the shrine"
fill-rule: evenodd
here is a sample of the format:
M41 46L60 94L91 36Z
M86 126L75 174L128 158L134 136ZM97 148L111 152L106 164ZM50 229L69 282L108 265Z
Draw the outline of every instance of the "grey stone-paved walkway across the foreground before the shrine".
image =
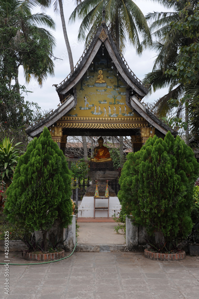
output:
M22 259L10 253L10 263ZM67 253L66 253L67 254ZM4 253L0 253L4 260ZM23 260L24 263L24 260ZM197 299L199 257L180 262L148 260L140 252L76 252L60 262L9 266L9 295L1 299Z

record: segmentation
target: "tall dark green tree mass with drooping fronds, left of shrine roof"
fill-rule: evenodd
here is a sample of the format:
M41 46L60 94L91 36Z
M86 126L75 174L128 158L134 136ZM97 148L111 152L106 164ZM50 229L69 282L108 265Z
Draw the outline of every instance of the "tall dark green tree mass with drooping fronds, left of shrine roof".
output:
M0 140L10 136L25 147L25 128L42 115L35 115L35 110L40 111L37 103L24 100L27 90L19 84L19 67L24 68L27 83L33 77L40 86L47 74L54 74L51 54L55 40L41 28L54 29L54 21L44 13L31 13L41 2L0 0Z

